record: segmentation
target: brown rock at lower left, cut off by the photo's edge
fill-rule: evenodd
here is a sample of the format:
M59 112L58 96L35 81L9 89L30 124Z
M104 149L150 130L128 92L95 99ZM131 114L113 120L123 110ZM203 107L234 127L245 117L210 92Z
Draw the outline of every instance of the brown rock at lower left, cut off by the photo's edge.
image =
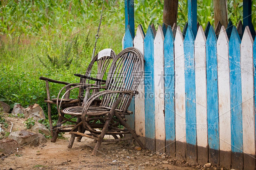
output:
M18 142L13 139L0 140L0 152L4 152L6 154L16 152L18 147Z

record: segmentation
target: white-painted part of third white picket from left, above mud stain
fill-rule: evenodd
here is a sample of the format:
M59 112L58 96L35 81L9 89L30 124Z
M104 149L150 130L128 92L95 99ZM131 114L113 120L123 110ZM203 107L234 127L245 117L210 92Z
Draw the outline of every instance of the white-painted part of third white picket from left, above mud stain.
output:
M174 41L175 70L175 137L176 141L186 143L186 113L185 113L185 72L184 45L180 26L177 26Z

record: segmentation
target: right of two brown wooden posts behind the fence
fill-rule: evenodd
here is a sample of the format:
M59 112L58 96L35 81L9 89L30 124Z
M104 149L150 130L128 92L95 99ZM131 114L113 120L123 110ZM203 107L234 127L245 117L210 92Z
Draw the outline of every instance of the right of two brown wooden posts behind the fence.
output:
M218 22L227 28L228 26L228 5L227 0L214 0L214 25L215 28Z

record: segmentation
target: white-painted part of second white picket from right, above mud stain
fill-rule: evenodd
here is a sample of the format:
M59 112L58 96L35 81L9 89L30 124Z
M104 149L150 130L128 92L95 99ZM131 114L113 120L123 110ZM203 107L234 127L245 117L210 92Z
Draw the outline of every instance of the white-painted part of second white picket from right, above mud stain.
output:
M228 36L221 26L217 41L220 150L231 151Z

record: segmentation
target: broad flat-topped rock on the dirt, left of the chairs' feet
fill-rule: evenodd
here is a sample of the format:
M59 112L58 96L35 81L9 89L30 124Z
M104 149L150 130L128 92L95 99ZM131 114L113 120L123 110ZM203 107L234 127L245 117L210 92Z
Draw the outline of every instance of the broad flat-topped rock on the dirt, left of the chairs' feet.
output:
M15 132L10 133L10 139L16 140L20 146L31 144L37 145L39 144L39 137L36 133L29 132L26 130L18 130Z

